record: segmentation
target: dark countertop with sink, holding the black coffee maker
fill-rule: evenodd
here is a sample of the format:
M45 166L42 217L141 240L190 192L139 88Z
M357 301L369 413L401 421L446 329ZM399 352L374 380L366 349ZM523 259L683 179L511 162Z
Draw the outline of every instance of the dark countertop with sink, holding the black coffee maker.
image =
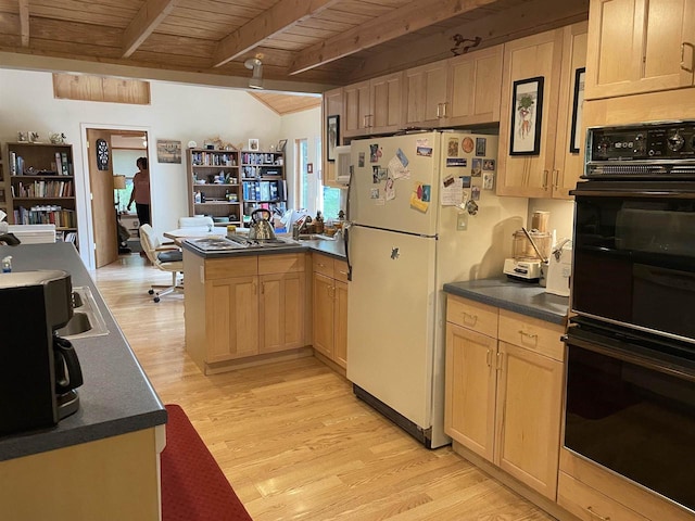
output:
M0 436L0 461L166 423L166 409L75 247L70 243L0 246L0 257L5 255L12 255L13 271L63 269L71 274L73 287L89 287L109 334L72 340L85 379L77 391L77 412L54 428Z

